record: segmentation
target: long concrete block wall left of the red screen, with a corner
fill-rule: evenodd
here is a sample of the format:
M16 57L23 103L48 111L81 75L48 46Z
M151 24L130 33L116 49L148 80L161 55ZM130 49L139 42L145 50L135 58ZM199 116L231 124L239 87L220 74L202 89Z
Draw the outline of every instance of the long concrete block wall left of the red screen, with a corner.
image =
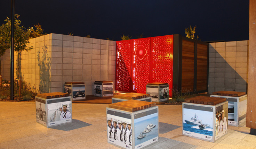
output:
M85 82L86 95L93 95L94 81L115 84L115 41L48 34L29 46L33 50L22 52L22 78L40 93L63 92L65 82L79 81Z

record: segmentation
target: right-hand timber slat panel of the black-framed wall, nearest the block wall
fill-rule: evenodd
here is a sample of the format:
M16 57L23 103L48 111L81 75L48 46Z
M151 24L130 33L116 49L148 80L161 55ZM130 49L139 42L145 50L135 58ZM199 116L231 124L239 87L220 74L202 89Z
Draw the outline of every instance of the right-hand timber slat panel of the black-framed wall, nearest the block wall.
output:
M208 46L197 44L197 90L207 89Z

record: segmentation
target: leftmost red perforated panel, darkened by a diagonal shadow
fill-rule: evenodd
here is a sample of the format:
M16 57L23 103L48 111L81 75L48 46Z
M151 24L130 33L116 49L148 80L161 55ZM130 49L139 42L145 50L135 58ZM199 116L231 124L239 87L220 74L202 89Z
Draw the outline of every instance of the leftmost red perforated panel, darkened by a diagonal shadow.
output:
M115 65L115 90L132 92L131 53L132 40L117 41Z

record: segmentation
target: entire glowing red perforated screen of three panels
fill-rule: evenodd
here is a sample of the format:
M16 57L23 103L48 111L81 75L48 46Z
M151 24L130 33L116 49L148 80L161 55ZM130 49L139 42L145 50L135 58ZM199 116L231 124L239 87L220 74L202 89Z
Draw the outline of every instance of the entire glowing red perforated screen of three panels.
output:
M146 93L152 82L168 83L171 90L173 35L117 41L115 70L115 90Z

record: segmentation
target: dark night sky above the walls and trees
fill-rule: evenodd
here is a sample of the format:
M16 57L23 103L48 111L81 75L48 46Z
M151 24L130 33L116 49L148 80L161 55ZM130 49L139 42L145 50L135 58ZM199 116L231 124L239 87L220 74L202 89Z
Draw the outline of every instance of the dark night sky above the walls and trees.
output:
M37 23L45 33L119 41L181 34L197 26L202 41L249 38L249 0L16 0L24 27ZM0 23L11 15L11 0L0 1Z

